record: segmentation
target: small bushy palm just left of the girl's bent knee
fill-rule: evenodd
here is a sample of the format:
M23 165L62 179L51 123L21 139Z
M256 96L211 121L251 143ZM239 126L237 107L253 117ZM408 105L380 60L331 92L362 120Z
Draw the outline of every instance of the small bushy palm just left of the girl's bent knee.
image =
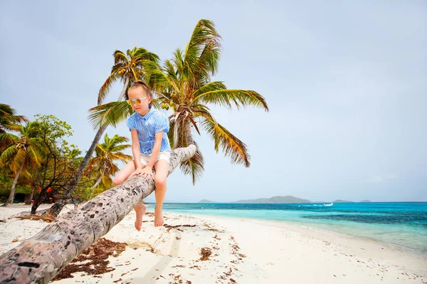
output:
M122 153L127 148L131 148L129 144L123 144L129 141L125 136L118 136L117 134L110 138L108 134L104 136L104 143L97 144L95 148L96 157L90 161L91 168L98 168L100 175L92 187L92 193L90 198L93 197L93 191L97 187L101 180L107 178L111 180L111 176L115 175L119 171L119 168L115 164L116 160L120 160L123 163L127 163L132 160L132 156Z

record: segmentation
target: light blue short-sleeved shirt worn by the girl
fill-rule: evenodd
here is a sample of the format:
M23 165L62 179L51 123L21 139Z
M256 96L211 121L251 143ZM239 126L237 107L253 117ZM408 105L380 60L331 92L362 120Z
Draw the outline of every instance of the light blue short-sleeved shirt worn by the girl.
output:
M147 114L142 116L135 111L126 120L129 130L135 129L138 132L139 151L151 155L154 147L154 136L157 132L163 131L162 146L160 152L171 151L167 132L169 131L169 120L157 109L149 109Z

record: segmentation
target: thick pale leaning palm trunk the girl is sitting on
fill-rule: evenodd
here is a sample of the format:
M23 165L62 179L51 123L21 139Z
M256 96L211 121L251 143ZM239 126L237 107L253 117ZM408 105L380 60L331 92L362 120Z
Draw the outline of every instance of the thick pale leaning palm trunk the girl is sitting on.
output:
M194 145L172 151L169 174L194 153ZM58 217L36 236L0 256L0 283L48 283L153 190L154 180L134 176Z

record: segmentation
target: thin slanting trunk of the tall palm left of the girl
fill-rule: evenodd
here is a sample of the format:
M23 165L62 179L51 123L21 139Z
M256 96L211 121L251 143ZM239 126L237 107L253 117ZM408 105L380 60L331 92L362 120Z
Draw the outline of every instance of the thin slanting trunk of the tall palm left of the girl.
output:
M117 101L122 100L122 98L125 96L127 84L129 84L129 78L126 78L125 86L122 89L122 92L120 93L119 99ZM85 170L86 165L88 165L90 158L92 158L92 154L95 151L95 147L97 143L100 141L100 138L102 136L102 133L104 133L105 129L107 129L108 124L102 125L100 129L98 129L95 138L93 138L92 145L90 145L90 148L88 152L86 152L85 158L83 158L82 163L80 163L80 166L78 167L77 172L74 175L73 180L71 180L70 185L68 185L67 190L63 193L62 199L53 204L51 208L49 208L46 212L43 213L44 217L49 217L52 219L55 219L58 217L58 214L65 206L65 203L70 198L71 194L73 193L75 187L77 186L78 182L82 178L83 170Z

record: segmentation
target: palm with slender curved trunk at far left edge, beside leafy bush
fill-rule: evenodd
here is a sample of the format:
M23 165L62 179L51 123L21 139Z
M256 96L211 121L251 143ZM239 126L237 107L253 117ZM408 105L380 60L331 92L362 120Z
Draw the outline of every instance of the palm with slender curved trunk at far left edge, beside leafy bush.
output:
M37 126L36 122L28 122L26 126L19 124L11 126L19 131L19 136L11 133L0 133L1 143L12 141L3 153L1 153L0 160L3 163L9 163L11 170L15 173L11 193L4 206L8 206L14 201L16 183L23 171L24 165L32 163L33 165L41 166L40 160L43 153L43 141L37 136Z

